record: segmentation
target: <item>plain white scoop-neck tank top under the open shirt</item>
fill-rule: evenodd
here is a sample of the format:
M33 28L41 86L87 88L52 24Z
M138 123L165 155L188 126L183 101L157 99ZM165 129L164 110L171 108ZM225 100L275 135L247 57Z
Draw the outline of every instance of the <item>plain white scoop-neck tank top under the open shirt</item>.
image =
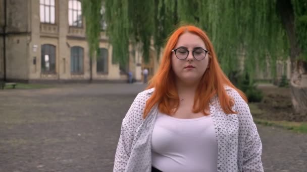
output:
M152 166L163 172L217 171L218 144L211 116L179 119L158 113L151 152Z

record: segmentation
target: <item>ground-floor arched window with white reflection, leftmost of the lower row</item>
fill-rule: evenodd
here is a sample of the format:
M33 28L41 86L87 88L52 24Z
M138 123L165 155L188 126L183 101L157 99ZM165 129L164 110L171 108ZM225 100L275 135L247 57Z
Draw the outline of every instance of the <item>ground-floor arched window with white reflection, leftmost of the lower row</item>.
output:
M41 46L41 72L56 73L56 46L50 44Z

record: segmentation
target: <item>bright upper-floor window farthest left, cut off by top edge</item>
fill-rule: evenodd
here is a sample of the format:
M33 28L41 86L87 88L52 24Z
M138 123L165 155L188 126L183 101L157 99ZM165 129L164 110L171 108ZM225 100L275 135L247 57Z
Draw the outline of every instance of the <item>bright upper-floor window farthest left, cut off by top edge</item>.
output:
M56 23L56 4L55 0L40 0L39 3L40 22L41 23Z

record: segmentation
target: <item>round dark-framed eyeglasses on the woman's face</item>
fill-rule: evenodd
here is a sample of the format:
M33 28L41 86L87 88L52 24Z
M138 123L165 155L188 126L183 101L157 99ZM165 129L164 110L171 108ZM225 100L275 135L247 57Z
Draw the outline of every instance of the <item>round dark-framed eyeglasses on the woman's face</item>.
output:
M190 51L186 48L177 48L173 49L172 52L175 52L175 55L179 60L184 60L188 57ZM192 51L192 54L196 60L203 60L206 55L209 54L209 51L202 48L196 48Z

